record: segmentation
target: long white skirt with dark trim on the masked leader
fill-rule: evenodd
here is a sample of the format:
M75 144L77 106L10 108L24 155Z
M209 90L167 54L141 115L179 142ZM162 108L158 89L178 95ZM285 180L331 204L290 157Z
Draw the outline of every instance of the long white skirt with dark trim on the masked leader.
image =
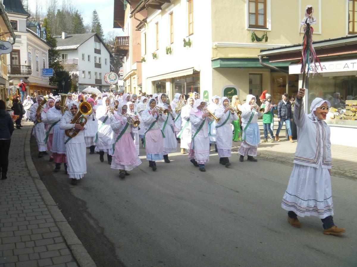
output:
M294 164L281 207L298 216L333 215L331 177L328 169Z

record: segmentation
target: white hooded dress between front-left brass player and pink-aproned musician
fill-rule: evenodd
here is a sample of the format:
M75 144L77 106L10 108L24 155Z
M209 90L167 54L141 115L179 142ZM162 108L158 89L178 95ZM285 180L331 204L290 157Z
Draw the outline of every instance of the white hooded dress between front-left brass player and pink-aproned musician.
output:
M114 132L110 127L111 114L110 111L106 112L107 105L105 100L107 96L103 98L102 105L99 106L96 110L96 118L98 120L98 132L97 132L97 145L95 147L95 151L104 151L108 153L108 155L112 155L113 153L113 144L114 144ZM104 122L104 124L103 124Z

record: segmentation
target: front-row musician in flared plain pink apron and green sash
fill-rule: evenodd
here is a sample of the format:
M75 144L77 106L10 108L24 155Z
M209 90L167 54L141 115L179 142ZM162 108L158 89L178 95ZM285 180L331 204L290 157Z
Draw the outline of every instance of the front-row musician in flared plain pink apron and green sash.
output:
M129 105L132 105L134 109L134 104L131 103ZM141 164L139 153L135 148L132 137L133 130L136 127L129 124L129 122L127 122L127 117L123 116L127 113L127 108L128 106L126 104L118 106L117 114L112 116L110 123L115 133L111 168L119 169L120 178L125 178L126 175L129 175L128 171L131 171Z

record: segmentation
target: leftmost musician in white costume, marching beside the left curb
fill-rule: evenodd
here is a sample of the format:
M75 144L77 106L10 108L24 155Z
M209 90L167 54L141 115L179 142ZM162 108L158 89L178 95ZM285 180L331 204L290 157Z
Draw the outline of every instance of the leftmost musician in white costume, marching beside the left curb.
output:
M33 104L30 109L30 119L34 121L33 135L36 136L37 146L39 147L39 158L43 157L44 155L47 155L47 145L46 142L44 142L44 139L46 138L45 124L36 120L41 120L41 113L37 113L37 108L41 104L42 100L44 100L44 97L42 95L37 96L36 103Z

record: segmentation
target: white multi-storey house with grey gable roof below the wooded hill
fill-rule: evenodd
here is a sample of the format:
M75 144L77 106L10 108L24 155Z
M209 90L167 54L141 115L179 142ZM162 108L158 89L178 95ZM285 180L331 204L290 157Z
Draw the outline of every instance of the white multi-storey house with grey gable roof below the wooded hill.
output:
M97 33L57 36L61 64L71 74L78 75L79 91L86 87L109 89L104 75L110 72L112 54Z

